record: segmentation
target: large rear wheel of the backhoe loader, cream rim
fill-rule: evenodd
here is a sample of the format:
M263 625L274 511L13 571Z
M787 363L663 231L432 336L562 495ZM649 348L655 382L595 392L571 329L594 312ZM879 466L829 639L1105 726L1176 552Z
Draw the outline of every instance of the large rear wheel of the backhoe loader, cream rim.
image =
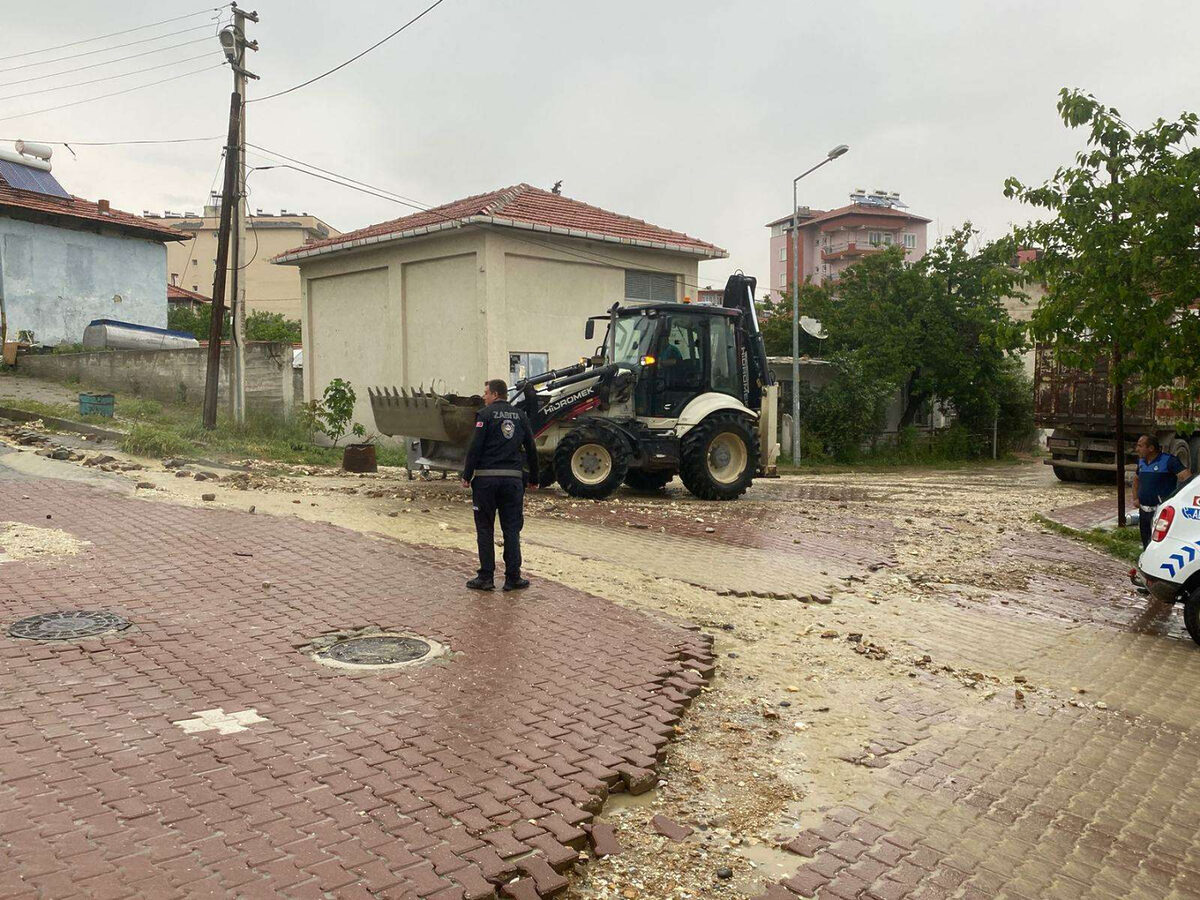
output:
M742 413L713 413L683 437L679 478L702 500L733 500L758 468L758 426Z

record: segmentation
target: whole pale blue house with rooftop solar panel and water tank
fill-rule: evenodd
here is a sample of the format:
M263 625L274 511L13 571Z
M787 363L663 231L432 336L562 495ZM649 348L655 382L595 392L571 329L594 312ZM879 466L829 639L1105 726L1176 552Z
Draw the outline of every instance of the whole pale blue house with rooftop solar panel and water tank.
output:
M7 338L76 343L92 319L167 325L166 242L156 222L70 194L49 148L0 149L0 299Z

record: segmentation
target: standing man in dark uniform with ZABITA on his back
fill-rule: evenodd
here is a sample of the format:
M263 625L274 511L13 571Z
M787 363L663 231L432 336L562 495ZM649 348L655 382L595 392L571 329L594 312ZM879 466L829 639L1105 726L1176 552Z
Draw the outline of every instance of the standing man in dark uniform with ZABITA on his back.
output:
M538 487L538 448L529 420L508 396L509 385L499 378L484 386L486 406L475 415L475 436L462 470L462 486L470 487L474 502L479 541L479 575L467 582L473 590L494 589L497 511L504 534L504 589L529 587L521 577L521 527L526 479Z

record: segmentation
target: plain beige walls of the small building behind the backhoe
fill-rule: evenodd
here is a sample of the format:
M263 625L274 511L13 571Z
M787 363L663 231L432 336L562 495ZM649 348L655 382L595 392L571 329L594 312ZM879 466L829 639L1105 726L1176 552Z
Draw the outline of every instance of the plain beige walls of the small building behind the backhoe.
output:
M510 232L463 228L302 262L305 400L346 378L371 430L372 386L470 395L508 378L511 352L576 362L593 349L587 317L624 300L625 268L677 272L679 298L696 282L695 259Z

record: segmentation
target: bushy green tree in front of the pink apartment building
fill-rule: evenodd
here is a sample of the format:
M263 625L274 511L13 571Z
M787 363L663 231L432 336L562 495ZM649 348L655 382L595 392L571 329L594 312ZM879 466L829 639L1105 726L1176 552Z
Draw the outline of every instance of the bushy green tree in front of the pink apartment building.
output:
M934 397L965 424L991 425L1006 360L1022 347L1004 310L1019 274L1007 241L978 252L964 224L919 262L902 247L872 253L811 296L832 352L859 352L864 377L904 390L900 427Z

